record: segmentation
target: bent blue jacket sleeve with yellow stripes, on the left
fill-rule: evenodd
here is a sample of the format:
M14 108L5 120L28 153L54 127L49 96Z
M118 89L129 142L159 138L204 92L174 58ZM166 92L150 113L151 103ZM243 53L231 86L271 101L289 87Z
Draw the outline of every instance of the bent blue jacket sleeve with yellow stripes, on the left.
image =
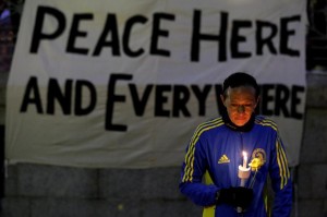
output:
M214 205L218 191L214 184L207 185L202 182L206 168L203 142L197 136L193 136L186 148L179 189L182 194L199 206Z

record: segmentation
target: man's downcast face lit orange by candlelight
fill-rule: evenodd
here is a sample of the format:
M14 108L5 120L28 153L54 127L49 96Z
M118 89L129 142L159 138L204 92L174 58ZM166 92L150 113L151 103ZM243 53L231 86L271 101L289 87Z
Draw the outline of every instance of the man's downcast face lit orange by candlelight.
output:
M238 126L244 125L257 105L255 89L252 86L228 87L227 95L220 96L227 108L229 119Z

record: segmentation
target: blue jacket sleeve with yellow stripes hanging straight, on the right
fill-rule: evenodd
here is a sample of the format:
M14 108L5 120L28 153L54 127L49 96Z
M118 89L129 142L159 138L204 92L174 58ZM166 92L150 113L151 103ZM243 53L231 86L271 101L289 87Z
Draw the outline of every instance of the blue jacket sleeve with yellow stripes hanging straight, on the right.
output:
M278 134L271 154L270 179L275 192L272 217L289 217L292 210L292 181L284 147Z

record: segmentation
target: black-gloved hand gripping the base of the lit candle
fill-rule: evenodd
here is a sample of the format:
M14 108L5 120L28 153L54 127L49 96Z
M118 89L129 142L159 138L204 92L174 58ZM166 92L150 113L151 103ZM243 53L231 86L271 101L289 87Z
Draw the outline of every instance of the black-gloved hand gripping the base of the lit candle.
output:
M253 190L243 186L221 189L217 195L217 204L226 203L245 209L253 200Z

